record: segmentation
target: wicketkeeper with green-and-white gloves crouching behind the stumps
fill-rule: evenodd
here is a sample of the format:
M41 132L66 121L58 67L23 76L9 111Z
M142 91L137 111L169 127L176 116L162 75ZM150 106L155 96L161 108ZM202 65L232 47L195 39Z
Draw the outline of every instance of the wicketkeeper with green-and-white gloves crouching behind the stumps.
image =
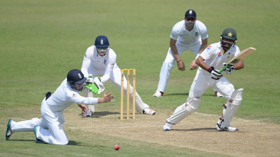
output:
M121 70L116 64L117 55L113 49L109 47L109 40L107 37L100 35L95 39L93 46L88 47L82 64L82 73L88 76L87 81L92 82L92 78L97 80L100 86L109 79L117 86L120 91L121 87ZM100 78L96 79L97 75L102 75ZM127 80L124 77L124 84ZM129 85L130 101L132 102L133 87ZM94 87L94 84L93 84ZM124 86L124 93L126 93L126 86ZM92 97L93 91L84 90L82 96ZM97 93L94 92L95 94ZM154 115L156 112L149 109L149 105L145 104L138 93L135 93L135 106L136 111L142 114ZM88 110L83 115L83 117L91 117L95 111L94 105L86 105Z

